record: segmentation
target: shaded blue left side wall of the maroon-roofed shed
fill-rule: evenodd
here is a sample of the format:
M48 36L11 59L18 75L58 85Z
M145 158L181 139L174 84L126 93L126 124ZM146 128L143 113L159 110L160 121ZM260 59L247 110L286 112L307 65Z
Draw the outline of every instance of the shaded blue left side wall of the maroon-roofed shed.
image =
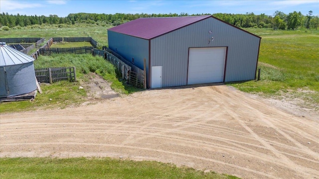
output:
M144 58L149 67L149 41L114 31L108 31L109 48L143 70ZM148 74L148 69L147 69Z

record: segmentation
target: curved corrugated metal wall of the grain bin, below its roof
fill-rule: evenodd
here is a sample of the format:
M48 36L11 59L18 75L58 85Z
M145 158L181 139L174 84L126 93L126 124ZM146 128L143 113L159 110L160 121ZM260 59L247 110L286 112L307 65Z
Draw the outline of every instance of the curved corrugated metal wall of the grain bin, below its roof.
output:
M9 94L6 97L26 94L36 90L33 62L6 66L5 71L9 90Z

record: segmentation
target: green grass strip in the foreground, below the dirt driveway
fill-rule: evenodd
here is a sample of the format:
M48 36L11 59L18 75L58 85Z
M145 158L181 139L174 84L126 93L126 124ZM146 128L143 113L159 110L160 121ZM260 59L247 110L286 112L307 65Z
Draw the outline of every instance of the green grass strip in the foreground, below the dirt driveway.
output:
M238 179L153 161L0 158L1 179Z

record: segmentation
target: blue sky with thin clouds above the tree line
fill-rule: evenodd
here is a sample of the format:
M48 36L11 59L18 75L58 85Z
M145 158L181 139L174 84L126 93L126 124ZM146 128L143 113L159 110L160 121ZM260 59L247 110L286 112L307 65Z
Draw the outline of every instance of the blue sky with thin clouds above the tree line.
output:
M0 0L0 12L20 15L58 15L70 13L240 13L273 15L301 11L319 14L319 0Z

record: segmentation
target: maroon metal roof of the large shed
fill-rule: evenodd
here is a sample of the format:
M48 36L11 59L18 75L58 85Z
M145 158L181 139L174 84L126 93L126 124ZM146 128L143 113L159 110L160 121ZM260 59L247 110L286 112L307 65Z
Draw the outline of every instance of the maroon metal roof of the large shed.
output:
M149 40L209 17L212 16L138 18L108 30Z

